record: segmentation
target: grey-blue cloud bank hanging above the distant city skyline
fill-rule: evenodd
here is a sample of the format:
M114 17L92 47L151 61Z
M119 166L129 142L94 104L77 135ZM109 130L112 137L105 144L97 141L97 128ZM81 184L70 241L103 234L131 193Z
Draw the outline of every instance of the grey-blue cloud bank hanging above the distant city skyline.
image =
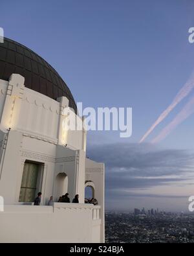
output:
M132 197L184 198L184 194L154 193L153 189L172 185L178 188L191 185L192 176L194 180L194 154L188 150L157 148L148 143L117 143L90 146L88 156L105 163L107 202L119 200L120 207Z

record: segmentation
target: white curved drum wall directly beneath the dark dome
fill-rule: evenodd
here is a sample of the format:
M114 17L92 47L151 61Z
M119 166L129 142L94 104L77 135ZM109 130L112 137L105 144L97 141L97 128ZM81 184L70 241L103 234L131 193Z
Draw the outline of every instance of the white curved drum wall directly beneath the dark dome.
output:
M12 128L50 143L67 144L68 148L85 150L86 137L83 130L63 130L62 124L67 118L63 111L68 108L69 100L66 97L58 101L50 99L25 87L22 76L12 76L10 82L0 80L0 130L6 132ZM74 111L69 111L82 122Z

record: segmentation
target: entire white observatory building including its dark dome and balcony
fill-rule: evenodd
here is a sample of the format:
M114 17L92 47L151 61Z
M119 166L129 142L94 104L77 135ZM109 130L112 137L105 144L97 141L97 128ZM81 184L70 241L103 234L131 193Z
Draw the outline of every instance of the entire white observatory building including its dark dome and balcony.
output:
M0 43L0 242L104 242L104 165L85 156L84 128L64 129L65 108L83 122L58 73L5 38ZM85 204L85 187L92 188L98 205ZM41 205L34 206L38 192ZM66 192L70 202L79 194L79 204L58 203ZM50 196L54 204L48 206Z

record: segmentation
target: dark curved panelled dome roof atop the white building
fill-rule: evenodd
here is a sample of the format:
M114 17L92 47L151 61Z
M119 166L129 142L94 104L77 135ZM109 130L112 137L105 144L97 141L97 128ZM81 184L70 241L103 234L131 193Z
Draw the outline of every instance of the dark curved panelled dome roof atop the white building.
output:
M8 81L13 73L25 77L26 87L51 99L66 96L70 108L77 113L69 87L56 70L27 47L4 38L4 43L0 43L0 79Z

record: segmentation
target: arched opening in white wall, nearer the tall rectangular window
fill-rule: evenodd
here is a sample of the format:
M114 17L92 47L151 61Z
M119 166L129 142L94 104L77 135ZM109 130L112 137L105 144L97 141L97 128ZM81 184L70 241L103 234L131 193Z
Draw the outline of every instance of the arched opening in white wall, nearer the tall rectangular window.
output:
M55 186L55 201L58 202L59 197L67 193L68 190L68 177L65 172L60 172L56 176L56 186Z

